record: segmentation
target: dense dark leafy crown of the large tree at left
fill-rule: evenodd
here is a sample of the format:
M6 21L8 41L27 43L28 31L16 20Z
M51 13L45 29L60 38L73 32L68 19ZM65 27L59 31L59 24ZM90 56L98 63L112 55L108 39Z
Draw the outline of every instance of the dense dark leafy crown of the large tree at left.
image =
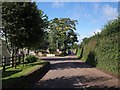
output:
M32 2L3 2L2 25L6 41L15 48L32 48L42 41L46 18Z

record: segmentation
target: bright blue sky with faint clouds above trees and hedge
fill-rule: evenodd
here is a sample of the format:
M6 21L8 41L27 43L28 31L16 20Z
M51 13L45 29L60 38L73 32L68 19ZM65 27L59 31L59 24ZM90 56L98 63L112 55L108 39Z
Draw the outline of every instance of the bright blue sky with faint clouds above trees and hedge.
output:
M71 18L78 21L76 32L79 42L84 37L100 32L105 23L118 15L117 2L37 2L38 9L54 18Z

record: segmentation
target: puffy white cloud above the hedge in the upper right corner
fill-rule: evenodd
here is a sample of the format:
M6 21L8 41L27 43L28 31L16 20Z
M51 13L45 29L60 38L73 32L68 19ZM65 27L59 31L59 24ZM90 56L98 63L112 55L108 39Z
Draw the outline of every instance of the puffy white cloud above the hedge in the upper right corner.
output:
M114 19L118 16L117 8L106 4L103 6L103 15L105 18Z

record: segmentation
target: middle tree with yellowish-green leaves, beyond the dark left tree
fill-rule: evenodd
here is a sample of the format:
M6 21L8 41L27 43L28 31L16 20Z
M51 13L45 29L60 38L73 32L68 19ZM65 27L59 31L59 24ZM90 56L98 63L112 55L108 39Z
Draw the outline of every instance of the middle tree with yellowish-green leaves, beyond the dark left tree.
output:
M54 18L50 22L51 37L52 41L54 41L52 44L56 44L56 48L62 48L64 53L67 50L68 44L77 41L76 34L74 33L76 23L76 20L71 20L70 18Z

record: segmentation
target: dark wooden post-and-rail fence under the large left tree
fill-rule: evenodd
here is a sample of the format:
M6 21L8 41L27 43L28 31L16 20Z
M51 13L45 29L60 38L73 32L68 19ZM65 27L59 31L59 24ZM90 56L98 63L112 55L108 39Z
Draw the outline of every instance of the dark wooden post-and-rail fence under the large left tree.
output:
M21 55L16 55L16 56L12 56L12 57L3 56L2 63L1 63L3 71L6 70L6 66L12 66L12 67L16 68L17 65L20 65L20 64L24 65L25 56L27 56L27 55L21 54Z

